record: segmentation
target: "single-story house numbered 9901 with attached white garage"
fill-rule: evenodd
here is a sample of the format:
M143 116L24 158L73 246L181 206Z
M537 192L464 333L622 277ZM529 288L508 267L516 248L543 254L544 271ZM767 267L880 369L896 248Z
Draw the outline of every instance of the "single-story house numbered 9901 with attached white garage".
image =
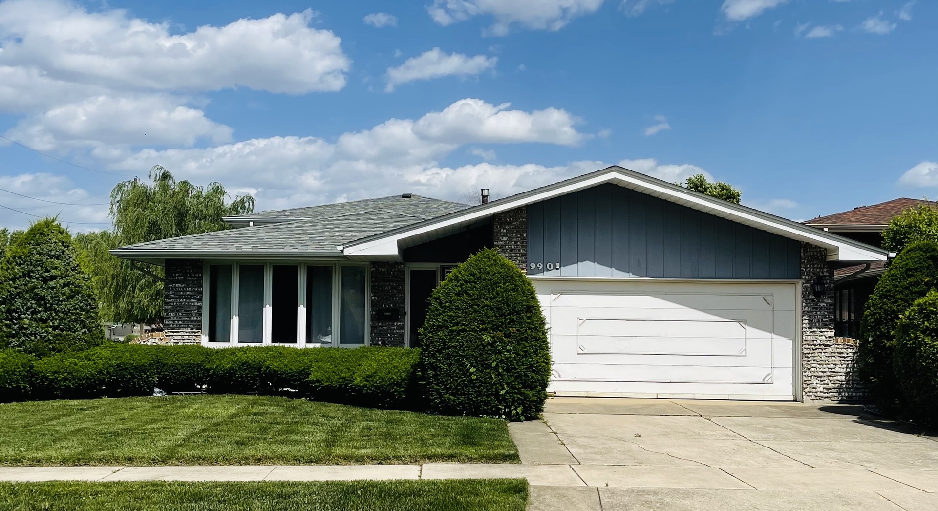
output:
M613 166L491 203L412 194L243 215L114 255L166 270L205 346L419 346L427 297L482 247L534 284L558 395L851 399L834 272L888 256Z

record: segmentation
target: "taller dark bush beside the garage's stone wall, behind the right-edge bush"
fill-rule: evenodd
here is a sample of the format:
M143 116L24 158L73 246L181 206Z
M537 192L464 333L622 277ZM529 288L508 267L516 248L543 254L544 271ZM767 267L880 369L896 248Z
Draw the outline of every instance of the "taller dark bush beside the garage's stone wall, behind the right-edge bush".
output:
M889 264L867 301L860 328L861 375L870 385L871 398L887 413L900 409L893 372L894 331L900 316L936 285L938 243L920 241Z

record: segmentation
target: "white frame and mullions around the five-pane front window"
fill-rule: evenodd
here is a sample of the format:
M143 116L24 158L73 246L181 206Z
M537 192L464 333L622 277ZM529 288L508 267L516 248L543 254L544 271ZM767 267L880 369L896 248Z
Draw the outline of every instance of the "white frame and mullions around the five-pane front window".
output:
M232 293L231 293L231 324L228 342L209 342L208 323L209 323L209 303L210 289L210 266L213 264L230 264L232 266ZM242 264L264 264L264 335L260 344L256 342L238 342L238 301L240 299L240 266ZM228 261L228 260L205 260L202 269L202 345L209 348L224 348L231 346L291 346L295 348L318 348L322 344L306 342L306 284L308 266L329 266L332 268L332 336L331 346L339 348L359 348L371 344L371 264L357 263L347 261L323 261L323 262L302 262L302 261L278 261L278 265L296 265L298 278L297 300L296 300L296 342L295 343L276 343L271 342L273 331L273 272L274 264L263 261ZM345 266L357 266L365 268L365 339L362 343L349 344L340 343L341 336L341 268Z

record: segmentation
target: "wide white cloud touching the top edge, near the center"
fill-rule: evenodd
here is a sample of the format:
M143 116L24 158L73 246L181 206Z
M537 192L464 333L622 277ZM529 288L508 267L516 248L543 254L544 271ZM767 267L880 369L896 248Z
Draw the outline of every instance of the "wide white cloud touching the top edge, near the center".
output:
M512 23L536 30L559 30L574 18L596 12L603 0L433 0L431 18L441 25L489 15L495 21L487 30L505 36Z

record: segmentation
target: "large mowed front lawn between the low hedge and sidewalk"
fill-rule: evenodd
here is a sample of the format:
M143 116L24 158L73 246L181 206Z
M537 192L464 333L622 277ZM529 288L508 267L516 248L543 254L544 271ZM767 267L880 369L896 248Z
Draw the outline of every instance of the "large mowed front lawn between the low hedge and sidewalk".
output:
M268 396L0 404L2 465L518 462L507 424Z

